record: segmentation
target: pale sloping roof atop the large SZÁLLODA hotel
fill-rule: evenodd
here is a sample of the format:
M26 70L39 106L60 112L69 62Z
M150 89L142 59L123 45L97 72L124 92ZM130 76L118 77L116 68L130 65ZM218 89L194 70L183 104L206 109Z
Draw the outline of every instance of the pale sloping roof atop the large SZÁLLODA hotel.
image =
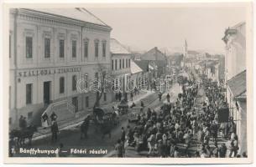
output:
M86 10L86 8L25 8L25 10L30 10L39 13L49 13L59 16L61 18L71 18L86 23L94 23L97 25L109 27L106 23L103 23L100 18L97 18L94 14Z

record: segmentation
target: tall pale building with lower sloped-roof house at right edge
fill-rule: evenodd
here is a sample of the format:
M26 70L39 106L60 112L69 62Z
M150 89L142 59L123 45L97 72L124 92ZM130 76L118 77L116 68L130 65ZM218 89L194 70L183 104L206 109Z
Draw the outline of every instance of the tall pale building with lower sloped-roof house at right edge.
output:
M227 28L222 38L226 44L225 84L226 98L238 134L239 152L247 152L247 70L246 23Z

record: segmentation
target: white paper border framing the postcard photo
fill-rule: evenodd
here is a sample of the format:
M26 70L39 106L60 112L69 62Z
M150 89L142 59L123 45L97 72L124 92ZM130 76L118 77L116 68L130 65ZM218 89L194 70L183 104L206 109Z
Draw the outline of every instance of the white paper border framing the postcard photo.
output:
M39 2L39 3L38 3ZM60 2L62 3L60 5ZM93 4L91 3L93 2ZM136 8L161 8L165 6L169 6L170 1L154 1L154 0L138 0L138 1L107 1L107 4L100 5L100 3L103 3L104 1L86 1L86 3L90 3L86 5L86 7L97 7L97 8L106 8L106 7L115 7L119 8L120 6L123 6L125 8L134 8L134 5L136 5ZM136 3L137 2L137 3ZM208 0L208 1L171 1L171 7L181 7L181 6L187 6L188 2L193 2L190 3L192 6L203 6L201 2L207 2L207 3L212 3L211 6L219 6L219 5L241 5L241 1L213 1L213 0ZM216 3L218 2L218 3ZM231 3L231 2L239 2L239 4ZM251 2L251 1L243 1L243 2ZM74 0L74 1L42 1L39 0L37 3L35 1L18 1L18 0L9 0L5 1L5 4L3 4L3 32L8 32L8 17L6 15L7 9L9 7L12 8L54 8L55 5L57 7L61 8L74 8L78 6L78 3L82 3L81 1ZM104 2L106 3L106 2ZM129 4L127 4L129 3ZM133 4L132 4L133 3ZM159 4L162 3L162 4ZM163 4L164 3L164 4ZM168 3L168 4L167 4ZM81 7L81 5L79 5ZM247 19L247 28L253 28L252 25L252 12L253 8L250 6L248 8L248 19ZM255 28L255 24L254 24ZM248 29L247 29L248 30ZM252 29L251 29L252 30ZM4 151L4 162L5 163L14 163L14 164L56 164L56 163L61 163L61 164L243 164L243 163L251 163L253 160L253 83L252 77L253 77L253 33L249 33L251 31L247 31L247 55L251 55L250 58L247 58L247 64L248 64L248 70L247 70L247 83L248 83L248 159L186 159L186 158L180 158L180 159L160 159L160 158L125 158L125 159L118 159L118 158L8 158L8 112L4 112L8 110L8 98L5 94L8 94L8 89L6 89L8 82L3 82L3 85L1 85L1 100L0 105L3 106L3 151ZM8 39L8 33L3 33L3 44L1 47L3 47L3 52L8 53L8 41L5 40ZM7 54L3 54L7 55ZM3 81L8 81L8 57L3 56L3 64L1 64L3 67ZM1 68L2 70L2 68ZM2 83L2 82L1 82Z

